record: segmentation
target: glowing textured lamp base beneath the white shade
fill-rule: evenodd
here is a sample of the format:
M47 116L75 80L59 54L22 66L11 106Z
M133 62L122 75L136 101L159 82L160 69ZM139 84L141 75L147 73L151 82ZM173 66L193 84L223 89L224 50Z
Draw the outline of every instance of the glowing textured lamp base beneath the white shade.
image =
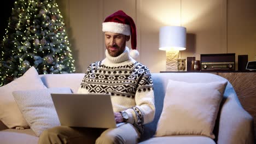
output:
M177 71L177 58L179 57L178 50L166 51L166 71Z

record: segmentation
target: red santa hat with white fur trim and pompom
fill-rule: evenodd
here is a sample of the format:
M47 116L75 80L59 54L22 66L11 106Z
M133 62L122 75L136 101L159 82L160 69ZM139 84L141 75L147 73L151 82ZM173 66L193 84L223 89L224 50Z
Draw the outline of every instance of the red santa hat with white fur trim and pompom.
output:
M136 26L132 18L126 15L124 11L118 10L114 14L109 15L102 23L102 31L131 35L132 50L130 51L130 56L132 58L138 57L139 52L136 50Z

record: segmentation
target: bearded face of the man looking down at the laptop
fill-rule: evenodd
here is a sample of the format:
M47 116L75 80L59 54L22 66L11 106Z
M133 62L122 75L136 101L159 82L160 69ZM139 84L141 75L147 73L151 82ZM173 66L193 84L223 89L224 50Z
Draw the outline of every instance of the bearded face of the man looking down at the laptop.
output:
M108 53L112 57L117 57L125 50L126 41L130 36L119 33L105 32L105 45Z

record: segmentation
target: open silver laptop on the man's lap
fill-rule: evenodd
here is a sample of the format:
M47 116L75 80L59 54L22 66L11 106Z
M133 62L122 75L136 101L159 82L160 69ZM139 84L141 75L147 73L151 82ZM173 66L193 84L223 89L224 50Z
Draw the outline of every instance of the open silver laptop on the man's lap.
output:
M61 125L68 127L116 128L109 94L56 94L51 98Z

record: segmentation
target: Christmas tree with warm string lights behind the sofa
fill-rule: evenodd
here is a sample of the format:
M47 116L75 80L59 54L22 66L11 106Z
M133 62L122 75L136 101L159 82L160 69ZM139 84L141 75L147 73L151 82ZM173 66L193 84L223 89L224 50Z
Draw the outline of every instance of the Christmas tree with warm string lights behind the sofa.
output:
M0 46L0 86L30 67L38 74L74 73L65 24L54 0L18 0Z

